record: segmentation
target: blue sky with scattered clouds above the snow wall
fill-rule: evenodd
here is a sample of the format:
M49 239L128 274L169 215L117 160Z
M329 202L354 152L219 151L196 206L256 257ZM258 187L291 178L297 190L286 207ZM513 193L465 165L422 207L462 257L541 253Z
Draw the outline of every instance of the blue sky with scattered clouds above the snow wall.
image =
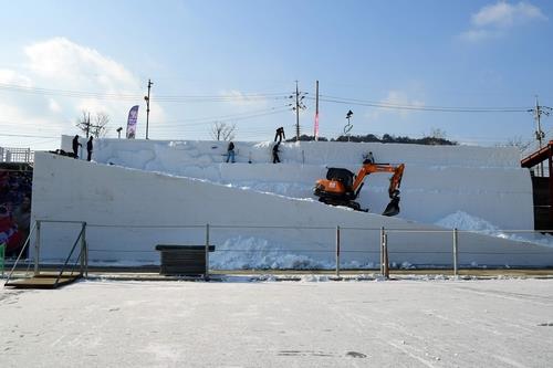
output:
M530 141L531 113L462 111L553 106L552 17L549 1L3 1L0 146L55 149L82 111L116 137L137 104L144 138L148 78L150 139L210 139L217 120L236 140L293 136L294 81L313 134L319 80L327 138L352 109L355 135Z

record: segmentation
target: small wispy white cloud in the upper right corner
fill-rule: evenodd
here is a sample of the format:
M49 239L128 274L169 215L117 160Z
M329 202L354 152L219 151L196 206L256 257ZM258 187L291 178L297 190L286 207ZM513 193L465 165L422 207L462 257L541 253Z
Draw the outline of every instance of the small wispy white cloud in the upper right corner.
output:
M541 9L529 2L509 3L498 1L472 14L469 30L462 32L460 38L469 42L500 38L515 25L546 20L547 17Z

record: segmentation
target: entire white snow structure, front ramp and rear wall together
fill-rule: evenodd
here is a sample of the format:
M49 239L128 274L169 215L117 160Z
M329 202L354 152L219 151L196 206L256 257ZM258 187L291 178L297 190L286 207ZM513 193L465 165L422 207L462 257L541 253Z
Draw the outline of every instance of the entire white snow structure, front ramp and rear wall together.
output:
M64 144L66 141L65 137ZM343 267L378 264L380 227L395 229L388 233L392 262L450 266L451 232L406 220L409 213L411 218L434 219L439 218L441 211L450 214L468 208L468 212L480 214L477 212L480 209L481 213L489 214L482 218L491 218L503 228L507 224L511 229L532 228L530 177L528 171L513 165L518 158L512 150L438 147L440 149L431 155L434 147L344 145L285 144L281 165L267 164L271 143L238 143L238 164L233 165L221 162L226 145L206 141L105 139L96 143L96 162L38 153L33 220L86 221L91 263L115 264L157 264L156 244L205 244L209 223L209 240L216 244L210 263L220 269L332 267L338 225ZM356 153L349 153L349 147ZM335 149L335 154L325 149ZM312 198L314 179L326 172L322 153L327 155L328 166L356 170L361 162L355 162L361 161L365 150L372 150L378 160L378 157L388 157L388 149L390 156L385 161L405 162L406 167L414 168L406 169L404 175L401 218L330 207ZM398 159L397 150L404 150L406 159ZM334 156L340 159L331 160ZM479 161L479 157L484 161ZM249 160L252 164L248 164ZM432 165L425 166L425 160ZM497 174L495 179L492 172ZM373 177L378 176L367 179ZM385 180L373 180L365 186L364 206L374 209L382 203L384 208L387 202L374 198L386 197L387 176L380 177ZM462 186L465 182L468 189ZM468 200L472 196L479 199ZM435 206L440 209L435 210ZM79 230L77 224L44 223L41 260L66 256ZM553 249L461 232L459 262L461 265L545 266L553 264Z

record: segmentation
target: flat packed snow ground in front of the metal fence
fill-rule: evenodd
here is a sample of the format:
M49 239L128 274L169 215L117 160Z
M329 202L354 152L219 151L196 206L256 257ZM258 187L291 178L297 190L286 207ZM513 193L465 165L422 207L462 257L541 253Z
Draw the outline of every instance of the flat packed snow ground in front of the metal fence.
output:
M549 367L552 280L0 288L2 367Z

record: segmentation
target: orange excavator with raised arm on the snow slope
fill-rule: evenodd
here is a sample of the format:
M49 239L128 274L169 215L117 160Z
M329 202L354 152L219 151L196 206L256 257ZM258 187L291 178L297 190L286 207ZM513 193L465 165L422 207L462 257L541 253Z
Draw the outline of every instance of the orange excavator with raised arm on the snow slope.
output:
M319 179L316 181L313 193L319 197L321 202L333 206L347 206L356 211L368 210L362 209L359 203L355 201L363 188L363 180L367 175L373 172L393 172L389 179L388 196L390 201L384 210L384 215L396 215L399 213L399 186L401 185L401 177L404 175L405 165L397 166L390 164L372 164L368 161L363 162L362 168L357 175L343 168L328 168L326 179Z

